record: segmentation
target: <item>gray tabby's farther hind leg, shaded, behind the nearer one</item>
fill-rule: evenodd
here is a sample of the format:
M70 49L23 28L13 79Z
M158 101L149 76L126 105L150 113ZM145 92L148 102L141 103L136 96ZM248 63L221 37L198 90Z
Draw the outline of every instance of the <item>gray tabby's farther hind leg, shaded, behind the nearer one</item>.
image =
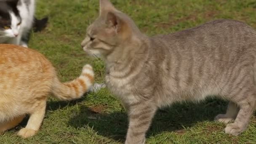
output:
M237 106L237 104L229 101L226 114L217 115L215 117L215 120L219 122L229 123L230 121L235 120L238 111L239 107Z

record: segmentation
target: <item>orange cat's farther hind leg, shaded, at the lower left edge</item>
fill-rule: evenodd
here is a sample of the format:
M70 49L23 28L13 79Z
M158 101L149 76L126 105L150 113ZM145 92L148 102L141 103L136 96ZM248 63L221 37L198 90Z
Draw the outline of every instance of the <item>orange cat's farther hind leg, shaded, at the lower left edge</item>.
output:
M15 117L13 120L10 120L5 123L0 123L0 134L3 133L4 131L7 131L11 128L14 128L15 126L19 125L21 121L24 119L24 115Z

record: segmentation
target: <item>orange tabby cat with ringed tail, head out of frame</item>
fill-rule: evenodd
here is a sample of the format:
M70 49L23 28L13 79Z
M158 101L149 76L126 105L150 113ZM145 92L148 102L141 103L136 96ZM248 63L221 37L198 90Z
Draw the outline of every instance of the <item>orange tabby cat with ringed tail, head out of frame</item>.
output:
M29 114L27 126L18 135L35 135L50 93L61 100L77 99L91 88L93 80L93 69L87 64L80 77L61 83L42 54L17 45L0 45L0 133L15 127Z

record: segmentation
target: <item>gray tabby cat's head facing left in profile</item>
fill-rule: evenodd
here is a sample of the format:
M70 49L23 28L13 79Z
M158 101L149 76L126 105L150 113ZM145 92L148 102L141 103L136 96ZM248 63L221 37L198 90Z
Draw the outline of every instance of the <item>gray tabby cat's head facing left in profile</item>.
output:
M92 56L107 56L115 49L130 45L141 35L129 16L118 11L109 0L100 0L99 17L87 28L81 43Z

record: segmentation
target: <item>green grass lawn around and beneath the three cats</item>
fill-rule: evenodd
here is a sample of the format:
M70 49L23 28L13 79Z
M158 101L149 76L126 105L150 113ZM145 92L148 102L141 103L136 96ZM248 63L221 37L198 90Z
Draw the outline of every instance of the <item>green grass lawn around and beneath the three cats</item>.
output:
M98 16L99 0L37 0L37 17L49 16L48 27L33 33L29 46L43 53L56 67L62 81L80 74L92 64L96 81L104 80L104 63L80 48L88 24ZM255 0L112 0L148 35L176 32L213 19L236 19L256 28ZM234 137L225 125L213 122L227 102L208 99L199 104L175 104L162 109L147 133L148 144L244 144L256 143L256 118ZM21 139L16 132L27 123L0 136L0 144L120 144L125 141L128 120L120 101L107 89L88 93L72 102L48 100L38 134Z

